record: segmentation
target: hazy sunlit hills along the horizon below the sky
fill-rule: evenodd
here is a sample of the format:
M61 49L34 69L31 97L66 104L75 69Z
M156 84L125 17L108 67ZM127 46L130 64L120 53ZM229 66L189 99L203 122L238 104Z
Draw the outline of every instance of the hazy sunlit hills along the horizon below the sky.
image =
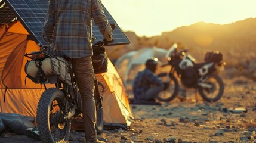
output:
M108 48L110 58L117 59L128 51L144 47L168 49L173 43L189 49L190 54L198 61L203 60L207 51L222 52L224 60L230 66L246 66L251 58L256 57L256 18L224 25L199 22L150 38L138 37L134 32L125 34L132 43Z

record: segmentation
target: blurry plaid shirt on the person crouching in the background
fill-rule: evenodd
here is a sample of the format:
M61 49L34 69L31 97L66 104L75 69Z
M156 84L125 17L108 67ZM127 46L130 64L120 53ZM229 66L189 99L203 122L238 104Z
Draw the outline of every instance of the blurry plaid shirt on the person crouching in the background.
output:
M147 90L149 90L150 87L154 85L161 85L162 83L162 80L159 79L158 76L155 76L155 74L147 68L138 72L132 85L132 92L135 100L144 98Z

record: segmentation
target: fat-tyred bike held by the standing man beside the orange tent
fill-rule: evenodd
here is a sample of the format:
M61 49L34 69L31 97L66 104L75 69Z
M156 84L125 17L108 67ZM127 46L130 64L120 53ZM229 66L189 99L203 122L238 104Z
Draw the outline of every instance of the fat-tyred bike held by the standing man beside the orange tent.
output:
M112 29L115 29L115 24L111 24ZM94 42L92 39L92 43ZM113 42L113 41L112 41ZM106 39L98 41L92 48L100 47L109 44ZM43 46L39 52L25 54L26 57L33 60L33 63L41 63L46 58L57 58L48 54L46 49L50 49L49 45ZM59 59L58 59L59 60ZM62 61L61 61L62 60ZM70 74L70 83L60 81L57 76L45 76L42 72L35 83L41 83L45 87L45 91L41 95L36 113L36 123L40 139L42 142L63 142L69 140L71 120L72 118L82 117L82 101L79 94L79 89L75 80L75 75L72 71L72 66L69 59L61 59L59 63L66 63L66 69ZM96 61L98 62L98 60ZM92 64L94 61L92 60ZM62 64L62 63L61 63ZM31 78L33 79L33 78ZM96 125L97 132L103 130L103 105L102 97L98 89L98 80L94 74L94 98L96 105ZM55 84L54 88L47 88L46 84Z

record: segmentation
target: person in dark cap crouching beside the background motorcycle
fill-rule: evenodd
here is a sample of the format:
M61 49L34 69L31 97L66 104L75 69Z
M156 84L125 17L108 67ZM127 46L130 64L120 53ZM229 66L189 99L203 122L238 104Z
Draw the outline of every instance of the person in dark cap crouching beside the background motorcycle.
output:
M143 101L155 102L159 92L164 89L164 82L155 75L157 61L157 58L149 58L145 64L146 68L138 72L135 77L132 87L135 103L143 103Z

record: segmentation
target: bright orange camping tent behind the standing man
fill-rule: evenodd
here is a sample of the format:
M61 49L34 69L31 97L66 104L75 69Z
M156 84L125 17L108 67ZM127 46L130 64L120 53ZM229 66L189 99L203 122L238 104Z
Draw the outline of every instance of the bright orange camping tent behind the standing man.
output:
M44 86L26 79L25 53L39 51L35 41L20 22L0 27L0 112L36 117L36 108ZM103 93L104 122L129 126L133 119L128 97L118 72L109 60L107 73L97 74ZM26 84L25 84L26 80ZM47 85L47 88L54 85Z

